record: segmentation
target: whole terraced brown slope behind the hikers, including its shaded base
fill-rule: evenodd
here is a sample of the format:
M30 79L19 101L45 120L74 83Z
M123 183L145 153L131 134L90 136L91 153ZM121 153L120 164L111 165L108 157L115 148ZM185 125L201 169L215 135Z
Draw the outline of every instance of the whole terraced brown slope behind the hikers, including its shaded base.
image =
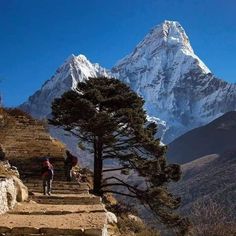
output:
M40 178L43 157L50 157L56 175L64 177L65 146L52 138L40 121L0 108L0 146L21 178Z

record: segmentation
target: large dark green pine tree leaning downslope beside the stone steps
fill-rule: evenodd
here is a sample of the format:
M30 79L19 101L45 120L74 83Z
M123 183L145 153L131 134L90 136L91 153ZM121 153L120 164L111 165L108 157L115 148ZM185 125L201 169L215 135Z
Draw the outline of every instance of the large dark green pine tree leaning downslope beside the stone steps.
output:
M90 78L79 82L76 91L55 99L50 122L72 132L93 152L94 194L137 198L161 222L185 235L189 222L174 213L180 199L167 188L179 180L180 168L167 164L166 146L155 139L157 127L147 123L143 105L143 99L119 80ZM119 166L106 169L107 160ZM127 183L113 174L117 171L135 173L142 183Z

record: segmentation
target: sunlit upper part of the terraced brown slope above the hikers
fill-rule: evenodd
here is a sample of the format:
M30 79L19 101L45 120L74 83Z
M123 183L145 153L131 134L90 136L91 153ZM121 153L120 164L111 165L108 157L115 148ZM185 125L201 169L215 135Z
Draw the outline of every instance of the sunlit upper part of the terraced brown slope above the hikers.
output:
M3 110L0 115L0 143L8 160L48 155L62 158L65 155L65 146L53 139L41 122L12 116Z

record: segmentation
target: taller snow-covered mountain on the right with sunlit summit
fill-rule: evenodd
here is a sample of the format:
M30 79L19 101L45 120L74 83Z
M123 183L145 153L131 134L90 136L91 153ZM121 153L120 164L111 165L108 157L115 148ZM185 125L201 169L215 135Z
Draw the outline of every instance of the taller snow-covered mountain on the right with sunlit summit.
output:
M166 122L166 143L236 109L236 85L210 72L176 21L153 28L112 73L143 96L150 116Z

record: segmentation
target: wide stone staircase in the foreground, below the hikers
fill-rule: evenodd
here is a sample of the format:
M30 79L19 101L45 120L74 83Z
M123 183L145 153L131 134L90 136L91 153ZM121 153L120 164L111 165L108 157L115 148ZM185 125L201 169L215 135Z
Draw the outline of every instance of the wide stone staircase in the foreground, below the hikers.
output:
M107 217L100 197L86 183L54 181L51 196L42 195L42 182L26 180L29 202L0 216L0 235L107 236Z

